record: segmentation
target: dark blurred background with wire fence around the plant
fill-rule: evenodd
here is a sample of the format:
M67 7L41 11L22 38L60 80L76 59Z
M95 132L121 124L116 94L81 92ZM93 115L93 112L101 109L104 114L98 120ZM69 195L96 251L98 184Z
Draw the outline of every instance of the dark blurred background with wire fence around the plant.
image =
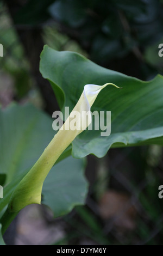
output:
M162 0L0 0L0 103L32 102L49 115L58 104L39 72L48 44L76 51L141 80L163 75ZM87 157L84 206L53 218L43 206L22 210L5 241L16 245L162 245L162 148L111 149Z

